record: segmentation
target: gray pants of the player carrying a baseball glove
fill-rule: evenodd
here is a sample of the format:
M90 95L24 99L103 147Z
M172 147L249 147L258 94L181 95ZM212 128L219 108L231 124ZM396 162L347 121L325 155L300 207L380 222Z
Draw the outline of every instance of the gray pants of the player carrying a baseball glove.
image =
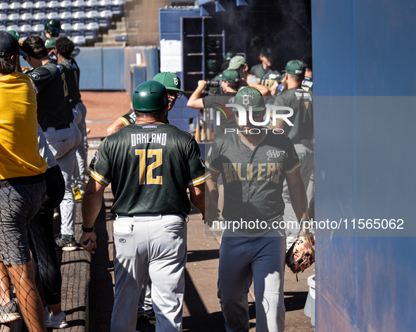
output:
M285 244L282 230L265 230L257 234L223 232L218 298L227 332L248 332L250 329L248 289L252 280L256 296L256 331L284 331Z

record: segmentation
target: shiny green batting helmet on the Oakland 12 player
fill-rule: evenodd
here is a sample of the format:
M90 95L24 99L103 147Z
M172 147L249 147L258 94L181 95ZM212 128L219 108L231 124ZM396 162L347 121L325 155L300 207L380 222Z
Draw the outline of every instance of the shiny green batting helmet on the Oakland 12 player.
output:
M144 82L134 90L133 109L139 112L158 111L168 103L168 91L158 81Z

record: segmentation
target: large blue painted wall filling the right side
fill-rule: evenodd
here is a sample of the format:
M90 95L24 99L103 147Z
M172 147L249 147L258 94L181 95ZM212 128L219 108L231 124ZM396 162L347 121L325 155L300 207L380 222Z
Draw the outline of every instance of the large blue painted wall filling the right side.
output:
M312 1L315 218L404 220L317 232L319 332L416 331L415 15L410 0Z

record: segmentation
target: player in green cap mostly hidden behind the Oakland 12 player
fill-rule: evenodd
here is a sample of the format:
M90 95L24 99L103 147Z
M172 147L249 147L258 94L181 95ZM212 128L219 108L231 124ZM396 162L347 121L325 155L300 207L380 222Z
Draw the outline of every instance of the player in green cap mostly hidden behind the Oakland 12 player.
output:
M158 81L168 90L168 111L170 111L170 109L172 109L172 107L175 105L176 100L181 98L183 93L186 93L185 91L181 90L181 80L179 77L171 72L160 72L156 74L155 77L153 77L153 81ZM136 115L134 114L134 111L130 109L129 112L115 120L113 124L107 128L107 135L111 135L112 133L119 131L124 126L135 123ZM169 123L168 118L166 118L166 123Z

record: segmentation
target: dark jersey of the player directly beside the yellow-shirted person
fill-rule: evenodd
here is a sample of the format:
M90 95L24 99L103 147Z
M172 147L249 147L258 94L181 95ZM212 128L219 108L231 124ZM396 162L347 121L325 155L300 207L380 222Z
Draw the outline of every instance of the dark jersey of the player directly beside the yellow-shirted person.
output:
M70 124L73 112L63 67L49 61L27 73L37 87L37 122L46 130Z

